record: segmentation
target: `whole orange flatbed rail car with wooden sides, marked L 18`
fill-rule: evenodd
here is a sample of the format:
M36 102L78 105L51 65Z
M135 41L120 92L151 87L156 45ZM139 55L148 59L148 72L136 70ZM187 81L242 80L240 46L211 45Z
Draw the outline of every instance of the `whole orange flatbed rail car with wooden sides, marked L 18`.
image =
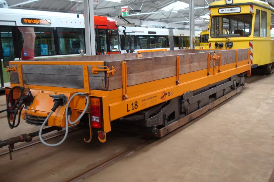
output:
M65 128L66 115L75 121L83 112L76 124L89 121L101 142L112 127L162 137L241 91L249 56L249 49L176 50L12 61L6 94L20 86L32 96L22 101L30 124Z

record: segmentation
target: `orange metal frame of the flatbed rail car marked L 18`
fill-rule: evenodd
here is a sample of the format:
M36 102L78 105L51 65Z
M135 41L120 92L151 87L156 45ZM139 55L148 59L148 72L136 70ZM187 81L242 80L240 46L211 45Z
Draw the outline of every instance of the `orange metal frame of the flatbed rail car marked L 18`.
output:
M212 51L212 50L210 50ZM217 52L217 50L216 50ZM101 98L102 105L101 109L103 111L103 129L105 136L107 132L110 132L110 122L116 119L119 119L123 116L141 111L143 109L152 107L159 103L166 102L167 100L182 96L185 92L193 91L200 89L210 84L214 84L221 80L231 77L232 75L237 75L240 73L247 72L247 76L250 76L251 73L251 64L250 64L250 54L248 55L247 60L237 61L237 51L236 51L236 62L216 66L216 61L221 63L221 53L208 56L208 68L204 70L198 70L195 72L190 72L180 75L180 60L177 56L177 59L174 60L174 63L177 65L177 75L169 78L164 78L160 80L155 80L152 82L147 82L143 84L133 85L127 87L127 76L126 76L126 61L122 63L122 88L112 91L100 91L100 90L90 90L89 88L89 72L88 65L98 65L103 66L103 61L12 61L10 62L10 71L18 72L19 75L19 84L11 83L11 87L19 85L29 88L32 92L32 95L35 96L34 101L29 109L23 109L22 118L27 112L28 114L33 114L36 116L47 116L50 112L53 102L52 98L48 97L48 94L65 94L68 98L73 95L75 92L84 92L89 94L89 98L97 97ZM210 68L210 63L213 62L213 67ZM18 65L18 70L13 70L13 65ZM37 86L37 85L26 85L23 83L23 74L22 66L23 64L44 64L44 65L83 65L83 79L84 79L84 89L71 89L64 87L51 87L51 86ZM16 68L16 67L15 67ZM111 75L110 75L111 76ZM6 88L6 93L9 88ZM242 90L242 86L238 89L228 93L227 95L217 99L213 103L202 107L201 109L193 112L193 116L190 115L179 119L178 121L171 123L167 127L158 130L157 136L162 137L167 133L175 130L176 128L182 126L183 124L189 122L191 119L194 119L197 116L200 116L207 110L218 105L224 100L235 95L237 92ZM161 98L163 92L171 92L172 95L168 97ZM13 93L15 94L15 93ZM15 95L16 98L16 95ZM83 111L85 107L85 98L76 96L77 101L74 101L74 110L78 111L76 115L72 115L72 120L77 118L80 112ZM75 100L75 99L74 99ZM65 107L58 107L56 112L48 120L49 126L59 126L66 127L65 125ZM87 111L90 113L90 110ZM91 129L92 130L92 129ZM92 131L91 131L92 132ZM99 138L99 137L98 137ZM101 142L105 142L106 137ZM90 140L89 140L90 141Z

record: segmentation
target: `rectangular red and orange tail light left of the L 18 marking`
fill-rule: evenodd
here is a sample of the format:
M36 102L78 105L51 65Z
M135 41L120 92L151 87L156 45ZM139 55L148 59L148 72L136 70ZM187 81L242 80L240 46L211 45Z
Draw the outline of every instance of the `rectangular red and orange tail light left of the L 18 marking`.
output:
M91 124L93 128L102 128L100 99L91 99Z

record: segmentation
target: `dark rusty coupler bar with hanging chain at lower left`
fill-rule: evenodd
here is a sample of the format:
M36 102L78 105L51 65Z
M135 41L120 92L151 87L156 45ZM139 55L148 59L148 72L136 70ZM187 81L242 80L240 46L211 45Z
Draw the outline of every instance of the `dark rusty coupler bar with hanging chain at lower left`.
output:
M60 131L60 130L62 130L62 128L56 127L56 126L45 128L45 129L42 130L42 135L45 134L45 133L48 133L48 132L55 131L55 130ZM35 131L35 132L32 132L32 133L28 133L28 134L25 133L25 134L19 135L17 137L11 137L11 138L8 138L8 139L0 140L0 148L2 148L3 146L7 146L8 145L8 150L10 152L10 159L12 160L11 152L14 149L14 144L15 143L19 143L19 142L31 142L32 138L36 137L38 135L39 135L39 130Z

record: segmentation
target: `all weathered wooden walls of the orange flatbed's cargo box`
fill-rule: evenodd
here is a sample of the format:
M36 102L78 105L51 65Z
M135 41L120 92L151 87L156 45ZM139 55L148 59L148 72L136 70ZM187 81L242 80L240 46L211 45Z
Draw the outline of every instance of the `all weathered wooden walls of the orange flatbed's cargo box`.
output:
M107 73L104 71L99 71L98 74L93 74L91 65L89 65L88 69L90 89L109 91L122 88L123 61L126 61L127 64L127 86L133 86L176 76L177 57L180 59L180 75L207 69L208 55L210 54L213 56L214 50L207 52L196 51L197 53L193 52L194 50L145 52L142 53L142 58L134 59L133 55L136 56L136 53L81 56L77 57L81 58L80 61L78 59L79 62L77 62L79 65L70 65L70 62L67 62L67 65L58 65L58 61L69 61L76 59L76 57L47 59L47 61L56 60L56 62L52 62L52 65L31 64L32 61L29 61L27 64L24 64L24 62L21 61L16 61L16 64L22 63L22 76L24 84L84 89L84 64L81 61L84 61L88 57L89 59L92 57L94 59L91 61L101 61L110 69L113 66L116 72L115 75L112 76L110 74L109 78L107 78ZM236 50L215 51L216 54L219 54L219 52L221 53L221 65L234 63L236 61ZM248 54L248 49L237 50L237 61L247 60ZM113 61L114 59L117 60ZM218 60L216 60L215 65L218 66L218 64ZM210 68L212 68L213 65L213 61L211 60ZM11 66L17 65L12 64ZM11 82L19 83L18 73L11 73Z

